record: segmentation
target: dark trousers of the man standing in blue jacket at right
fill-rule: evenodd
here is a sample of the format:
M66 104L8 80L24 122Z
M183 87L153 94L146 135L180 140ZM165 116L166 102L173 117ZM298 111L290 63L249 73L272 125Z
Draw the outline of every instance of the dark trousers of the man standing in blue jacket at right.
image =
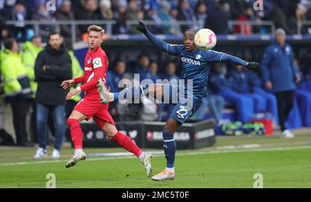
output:
M279 124L281 131L286 130L285 121L288 119L288 114L294 106L294 90L274 92L278 103Z

